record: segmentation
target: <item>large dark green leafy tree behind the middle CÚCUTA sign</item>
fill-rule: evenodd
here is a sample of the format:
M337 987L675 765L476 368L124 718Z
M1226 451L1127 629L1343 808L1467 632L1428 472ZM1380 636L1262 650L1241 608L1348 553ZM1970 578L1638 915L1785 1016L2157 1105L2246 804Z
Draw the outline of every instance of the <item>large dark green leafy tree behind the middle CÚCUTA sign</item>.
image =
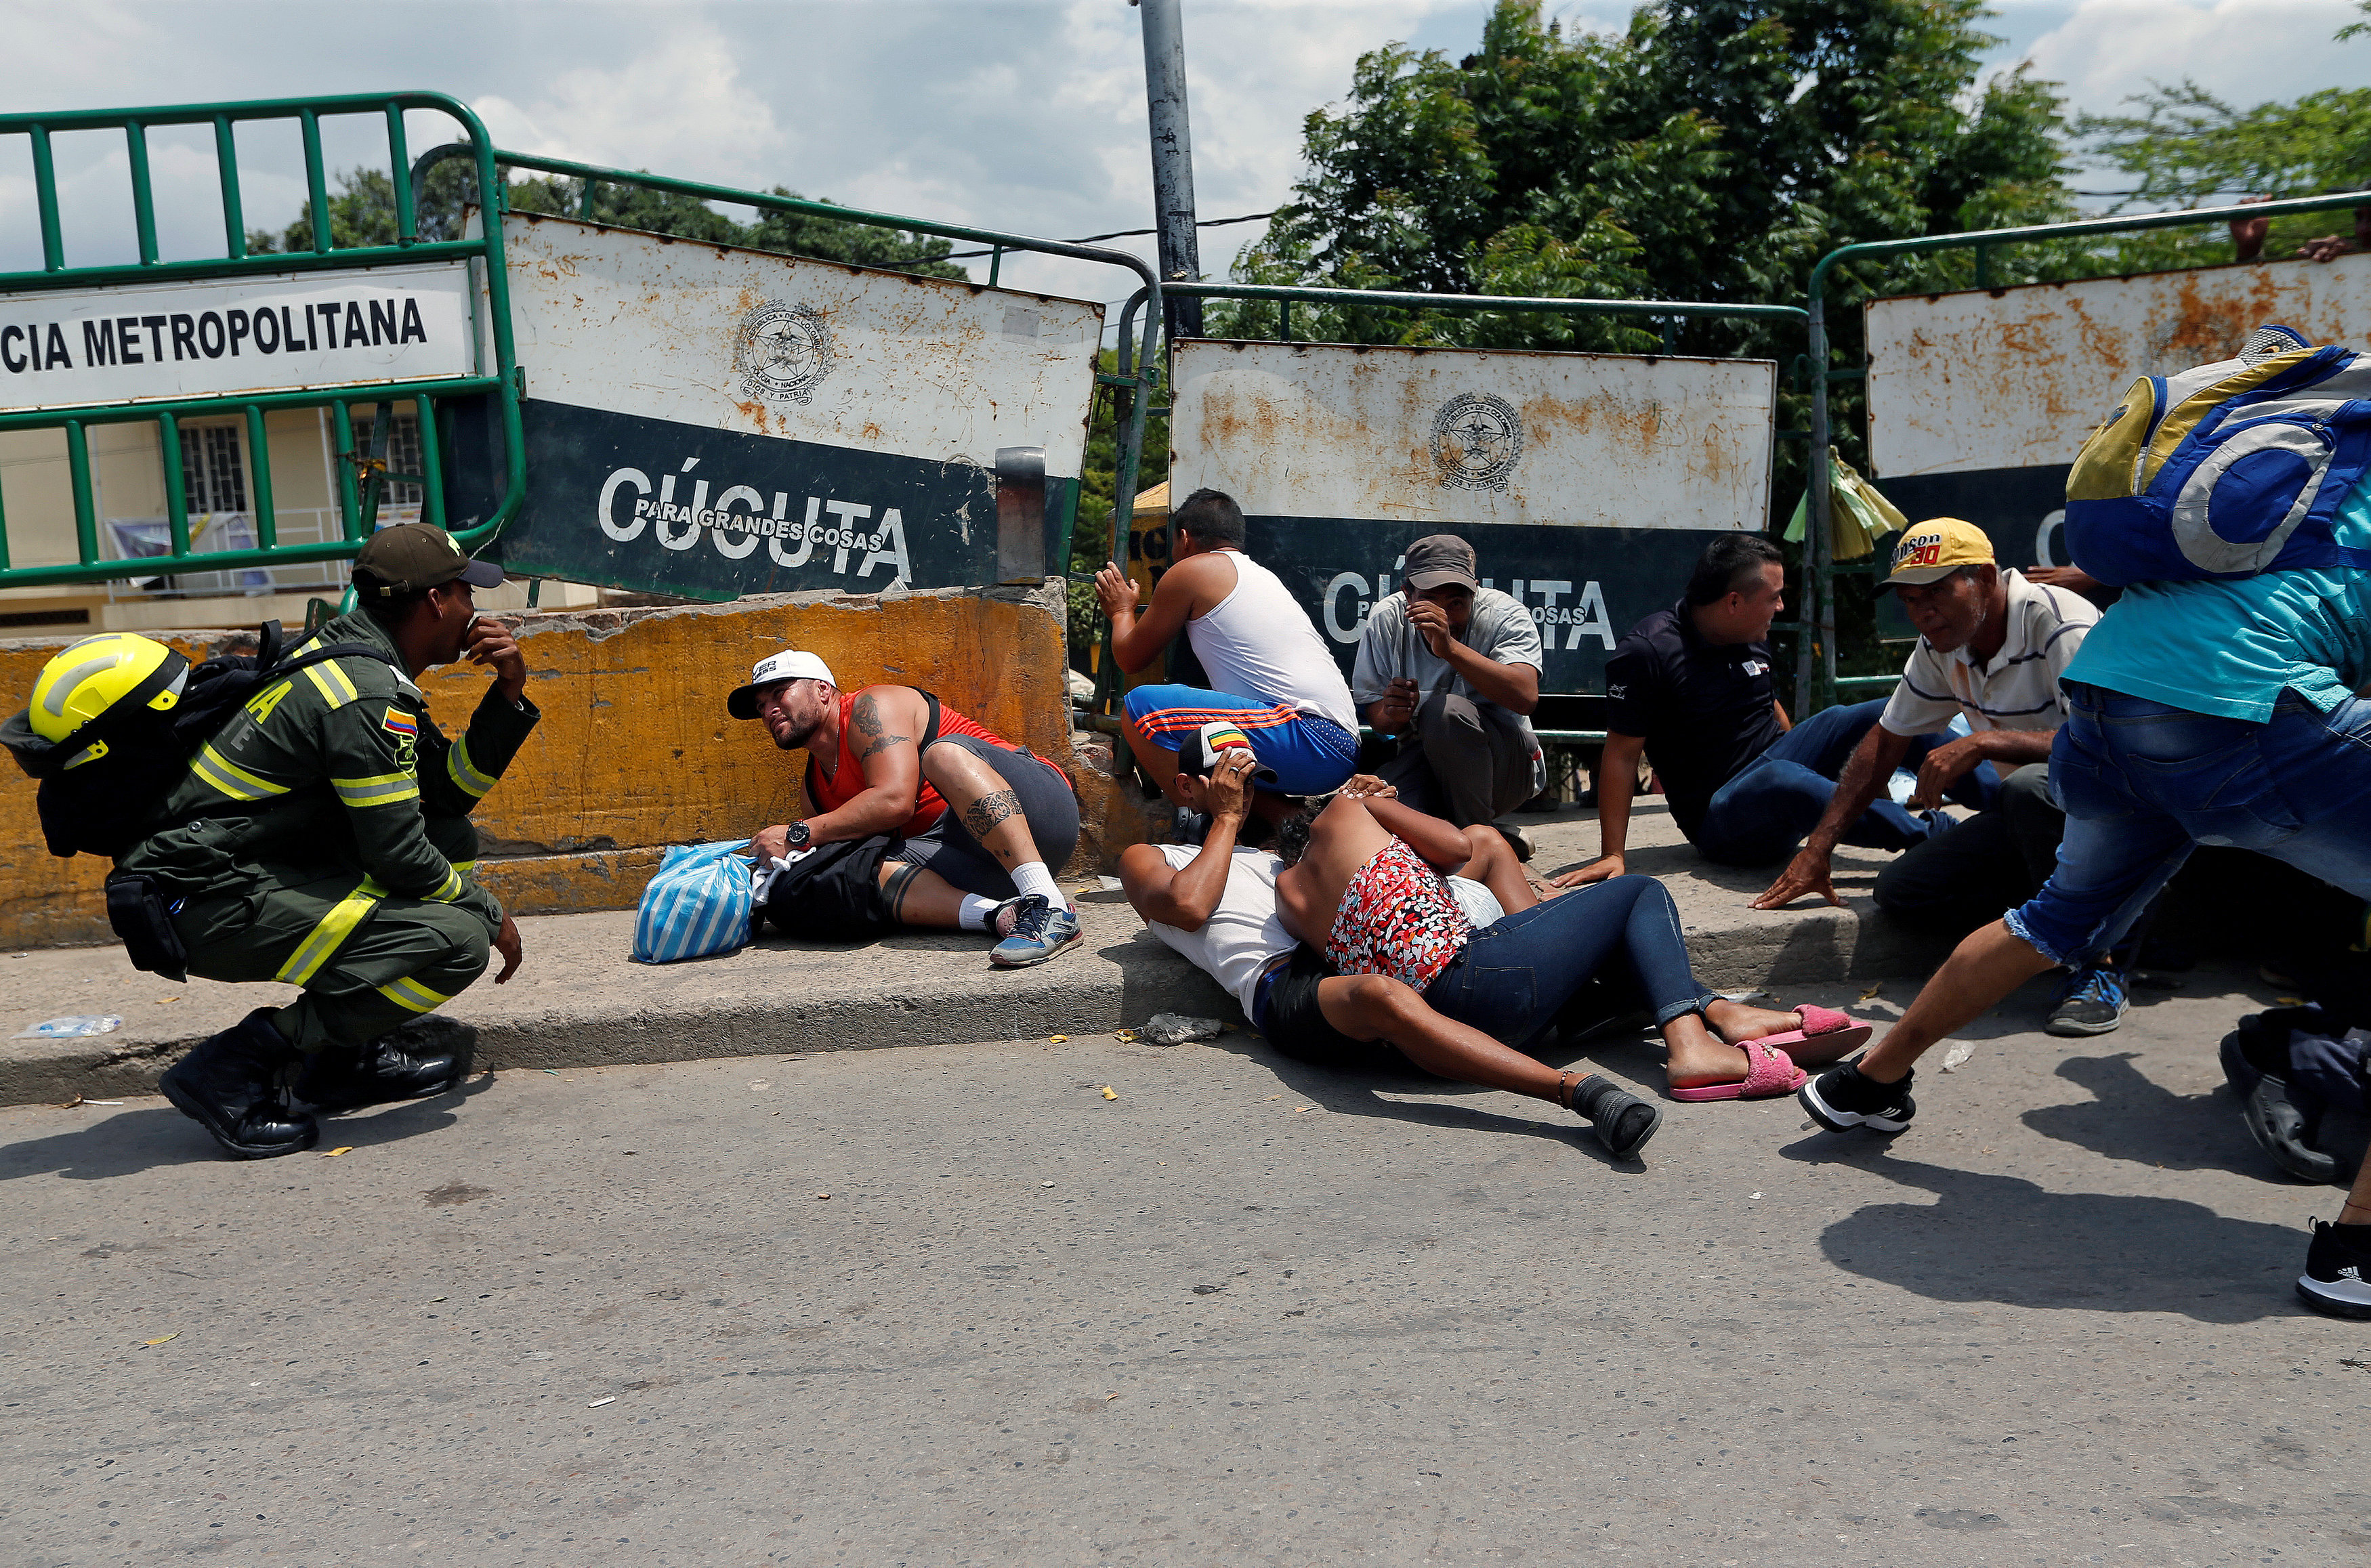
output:
M1501 0L1465 59L1394 43L1359 62L1347 102L1309 116L1295 202L1238 275L1759 304L1800 299L1811 263L1845 242L2070 216L2058 95L2025 71L1977 81L1994 43L1980 14L1980 0L1667 0L1600 36L1565 33L1539 0ZM1838 304L1966 287L1973 259L1840 282ZM1242 334L1278 327L1268 304L1216 315ZM1510 313L1304 308L1297 327L1539 349L1660 339L1636 318ZM1797 351L1783 327L1714 320L1679 323L1676 344Z

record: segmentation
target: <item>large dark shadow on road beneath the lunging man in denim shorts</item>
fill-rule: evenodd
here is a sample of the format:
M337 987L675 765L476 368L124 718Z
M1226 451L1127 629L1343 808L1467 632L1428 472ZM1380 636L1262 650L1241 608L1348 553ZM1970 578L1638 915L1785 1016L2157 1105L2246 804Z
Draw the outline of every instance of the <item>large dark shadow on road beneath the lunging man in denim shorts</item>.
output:
M1830 1224L1835 1267L1939 1302L2179 1312L2252 1324L2302 1312L2305 1231L2229 1219L2181 1198L2053 1193L2022 1177L1897 1160L1871 1139L1814 1134L1781 1150L1849 1165L1935 1203L1871 1203Z

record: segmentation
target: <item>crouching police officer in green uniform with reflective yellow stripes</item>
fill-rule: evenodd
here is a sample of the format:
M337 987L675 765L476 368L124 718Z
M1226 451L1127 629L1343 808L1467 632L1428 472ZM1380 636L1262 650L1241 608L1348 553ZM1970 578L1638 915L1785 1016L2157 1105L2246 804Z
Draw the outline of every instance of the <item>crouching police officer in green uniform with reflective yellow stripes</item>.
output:
M379 529L353 562L360 610L299 648L351 643L258 690L199 750L159 821L119 863L159 882L187 968L301 987L256 1008L164 1075L164 1094L232 1155L311 1148L299 1108L351 1110L441 1094L467 1072L415 1025L503 956L519 928L472 878L469 811L541 716L526 659L472 588L503 569L443 531ZM458 657L493 669L469 731L448 742L413 681Z

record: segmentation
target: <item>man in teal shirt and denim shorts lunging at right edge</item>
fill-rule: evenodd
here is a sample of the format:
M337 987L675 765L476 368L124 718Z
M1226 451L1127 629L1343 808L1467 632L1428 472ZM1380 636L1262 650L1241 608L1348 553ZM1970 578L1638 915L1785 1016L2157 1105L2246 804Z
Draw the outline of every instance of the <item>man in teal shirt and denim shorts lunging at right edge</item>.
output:
M2371 486L2338 508L2335 543L2371 550ZM2113 946L2203 840L2371 897L2371 702L2354 695L2371 681L2371 572L2136 584L2063 681L2058 868L1961 942L1868 1056L1804 1084L1821 1127L1909 1127L1911 1065L1935 1041L2041 970ZM2297 1295L2371 1319L2371 1160L2338 1224L2314 1229Z

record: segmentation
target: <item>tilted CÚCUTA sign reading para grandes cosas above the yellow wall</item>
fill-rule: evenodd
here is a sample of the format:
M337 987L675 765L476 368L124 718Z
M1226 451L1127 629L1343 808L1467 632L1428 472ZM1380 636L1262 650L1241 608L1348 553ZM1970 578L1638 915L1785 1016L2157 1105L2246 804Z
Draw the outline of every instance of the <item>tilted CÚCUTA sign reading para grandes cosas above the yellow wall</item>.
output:
M1043 448L1048 541L1076 508L1103 306L526 213L503 244L515 572L695 598L998 581L1001 451Z

